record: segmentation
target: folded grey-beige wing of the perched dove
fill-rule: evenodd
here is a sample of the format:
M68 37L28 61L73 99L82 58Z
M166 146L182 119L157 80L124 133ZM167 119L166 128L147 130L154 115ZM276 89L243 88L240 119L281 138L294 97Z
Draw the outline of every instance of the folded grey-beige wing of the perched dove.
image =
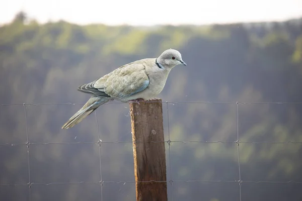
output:
M125 98L144 90L149 85L149 77L143 61L132 62L121 66L111 73L78 90L96 96Z

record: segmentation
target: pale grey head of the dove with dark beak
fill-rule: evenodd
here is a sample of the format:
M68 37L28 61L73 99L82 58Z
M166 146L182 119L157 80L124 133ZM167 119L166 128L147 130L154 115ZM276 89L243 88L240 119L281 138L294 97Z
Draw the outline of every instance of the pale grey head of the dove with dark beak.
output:
M173 68L178 64L187 65L181 58L179 51L174 49L165 50L158 58L157 62L163 65L164 67Z

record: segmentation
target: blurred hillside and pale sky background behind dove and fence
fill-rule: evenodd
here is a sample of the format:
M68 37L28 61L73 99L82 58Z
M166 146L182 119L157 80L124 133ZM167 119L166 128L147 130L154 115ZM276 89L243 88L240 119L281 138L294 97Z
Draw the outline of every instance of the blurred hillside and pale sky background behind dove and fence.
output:
M169 48L187 63L159 96L186 102L163 104L169 200L240 200L237 132L241 199L302 200L301 1L2 4L0 200L135 200L128 104L61 126L79 85Z

